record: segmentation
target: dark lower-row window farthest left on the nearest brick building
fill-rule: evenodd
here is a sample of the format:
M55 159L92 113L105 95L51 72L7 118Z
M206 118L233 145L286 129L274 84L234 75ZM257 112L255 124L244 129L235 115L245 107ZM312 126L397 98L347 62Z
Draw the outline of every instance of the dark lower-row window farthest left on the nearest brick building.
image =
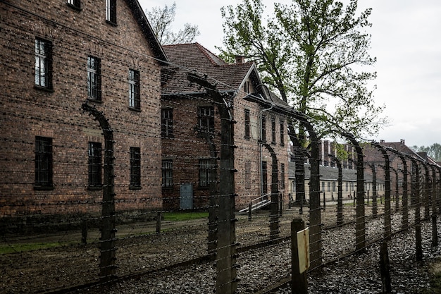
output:
M52 138L35 137L35 186L52 188Z

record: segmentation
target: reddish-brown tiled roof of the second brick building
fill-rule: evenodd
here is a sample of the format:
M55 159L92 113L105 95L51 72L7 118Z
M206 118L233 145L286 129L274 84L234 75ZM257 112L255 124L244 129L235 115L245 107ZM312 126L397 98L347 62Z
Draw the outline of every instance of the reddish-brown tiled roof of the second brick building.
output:
M163 49L171 64L162 70L162 94L204 92L199 89L199 85L188 82L187 74L190 71L197 71L218 81L218 90L221 92L239 89L244 78L252 71L257 71L253 62L226 63L199 43L166 45Z

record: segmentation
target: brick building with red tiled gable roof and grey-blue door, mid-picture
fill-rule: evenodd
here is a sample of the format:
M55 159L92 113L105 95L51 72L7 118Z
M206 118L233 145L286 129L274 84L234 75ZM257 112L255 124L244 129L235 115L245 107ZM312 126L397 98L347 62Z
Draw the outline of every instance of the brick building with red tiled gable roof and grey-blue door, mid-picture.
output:
M198 43L163 48L172 63L163 68L161 104L164 209L209 205L209 162L213 152L218 156L220 150L220 116L206 91L187 80L192 70L213 79L217 90L232 101L236 208L247 207L251 200L271 192L271 154L259 139L268 142L277 155L279 189L286 202L287 118L243 98L253 93L284 102L262 85L255 64L244 63L241 57L236 63L225 63ZM209 141L201 136L204 130L211 136Z

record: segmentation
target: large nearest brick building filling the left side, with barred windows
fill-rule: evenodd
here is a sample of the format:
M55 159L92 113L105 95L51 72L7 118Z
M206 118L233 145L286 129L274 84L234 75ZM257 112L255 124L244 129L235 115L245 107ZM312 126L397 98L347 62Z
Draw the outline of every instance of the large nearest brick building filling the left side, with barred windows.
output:
M0 217L101 209L113 130L117 211L161 208L160 67L136 0L2 1Z

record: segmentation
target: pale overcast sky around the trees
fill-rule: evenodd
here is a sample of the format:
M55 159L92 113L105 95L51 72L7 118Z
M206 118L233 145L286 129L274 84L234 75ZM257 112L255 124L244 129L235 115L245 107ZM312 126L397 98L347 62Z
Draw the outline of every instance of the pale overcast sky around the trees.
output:
M171 6L174 0L139 0L144 11L154 6ZM262 0L267 14L273 3L290 0ZM241 0L177 0L174 30L184 23L197 25L196 41L218 54L223 20L221 7ZM441 144L441 1L440 0L359 0L359 8L373 8L369 18L371 56L377 57L374 92L376 104L385 104L390 125L378 137L408 146Z

